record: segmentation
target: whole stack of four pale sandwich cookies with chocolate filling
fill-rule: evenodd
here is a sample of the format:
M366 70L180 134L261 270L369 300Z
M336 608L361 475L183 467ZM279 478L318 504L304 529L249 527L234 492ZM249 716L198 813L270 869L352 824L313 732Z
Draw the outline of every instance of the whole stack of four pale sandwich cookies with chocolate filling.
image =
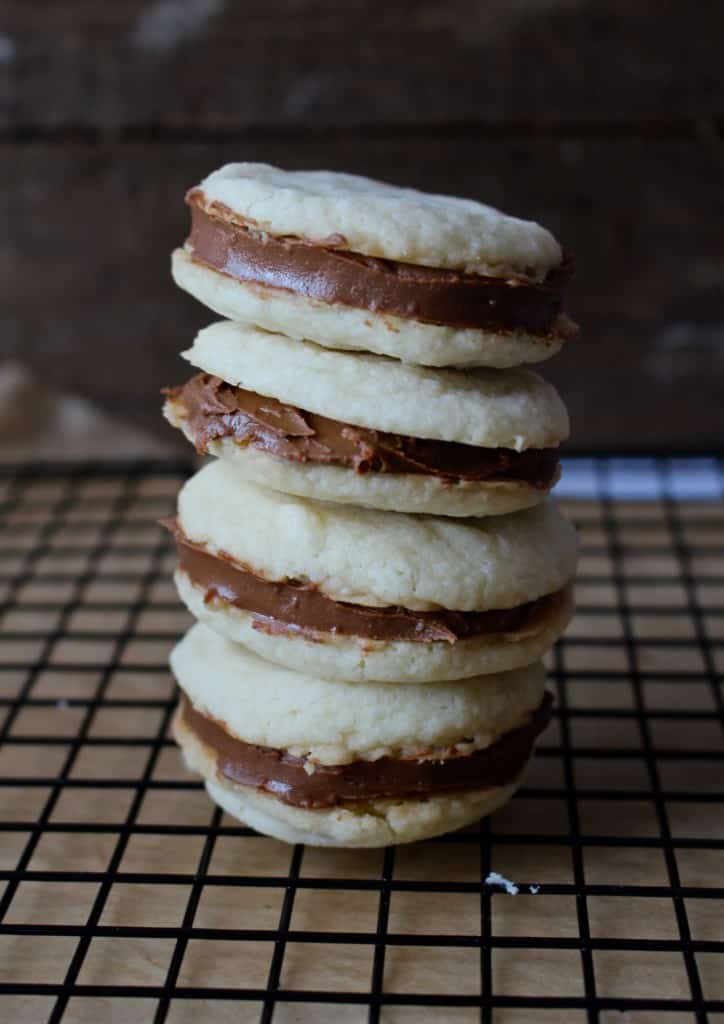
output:
M538 225L348 175L231 165L187 199L174 275L231 321L166 392L217 457L168 523L199 620L176 738L280 839L470 823L520 784L572 611L547 497L567 417L518 366L576 333L569 261Z

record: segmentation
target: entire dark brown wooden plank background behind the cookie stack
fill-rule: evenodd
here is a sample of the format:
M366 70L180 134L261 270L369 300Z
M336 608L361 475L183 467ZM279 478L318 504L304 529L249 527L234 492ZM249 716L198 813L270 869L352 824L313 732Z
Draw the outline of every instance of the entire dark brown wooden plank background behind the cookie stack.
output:
M11 0L0 23L0 344L163 431L210 316L182 196L229 160L483 199L578 259L545 366L581 447L724 435L724 4Z

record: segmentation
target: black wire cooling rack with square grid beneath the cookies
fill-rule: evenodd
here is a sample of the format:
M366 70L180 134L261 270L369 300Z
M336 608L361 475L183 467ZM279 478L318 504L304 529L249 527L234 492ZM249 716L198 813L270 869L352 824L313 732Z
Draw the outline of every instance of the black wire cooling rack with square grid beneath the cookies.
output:
M0 1020L724 1021L724 508L686 498L724 476L630 466L569 465L579 613L526 787L363 852L223 816L169 739L186 464L0 468Z

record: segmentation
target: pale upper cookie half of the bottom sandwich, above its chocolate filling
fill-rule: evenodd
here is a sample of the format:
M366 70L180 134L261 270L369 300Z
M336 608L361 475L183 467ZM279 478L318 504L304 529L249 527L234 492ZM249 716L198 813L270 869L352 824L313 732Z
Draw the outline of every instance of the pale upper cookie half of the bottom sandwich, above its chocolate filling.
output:
M545 690L540 663L437 685L329 681L270 664L201 624L174 648L171 668L196 710L230 735L327 765L482 750L523 724Z

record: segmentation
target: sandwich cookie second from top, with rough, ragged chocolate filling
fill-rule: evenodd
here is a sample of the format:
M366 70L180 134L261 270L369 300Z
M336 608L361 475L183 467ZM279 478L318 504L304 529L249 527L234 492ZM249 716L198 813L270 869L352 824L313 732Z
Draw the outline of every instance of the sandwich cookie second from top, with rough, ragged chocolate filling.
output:
M288 494L480 516L540 502L568 418L528 370L430 370L223 321L183 353L203 371L166 418L199 452Z

